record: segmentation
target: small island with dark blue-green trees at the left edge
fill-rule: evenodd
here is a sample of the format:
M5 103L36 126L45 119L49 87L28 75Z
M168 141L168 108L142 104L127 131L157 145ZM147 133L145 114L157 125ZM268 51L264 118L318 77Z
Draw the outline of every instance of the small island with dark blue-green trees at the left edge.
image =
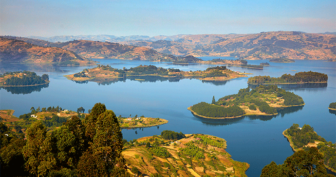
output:
M5 75L14 75L21 72L6 72ZM35 72L23 71L21 77L10 77L5 80L4 85L6 86L21 86L21 85L37 85L49 82L49 76L43 74L42 76L37 76Z

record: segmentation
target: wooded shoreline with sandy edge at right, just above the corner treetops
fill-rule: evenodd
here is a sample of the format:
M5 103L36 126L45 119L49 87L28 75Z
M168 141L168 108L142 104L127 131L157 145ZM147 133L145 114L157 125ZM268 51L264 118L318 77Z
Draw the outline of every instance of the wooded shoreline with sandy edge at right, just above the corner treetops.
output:
M323 155L324 166L336 173L336 143L327 142L321 136L318 136L314 128L304 125L299 128L299 124L293 124L282 134L287 138L293 151L309 151L310 147L317 147L318 152Z

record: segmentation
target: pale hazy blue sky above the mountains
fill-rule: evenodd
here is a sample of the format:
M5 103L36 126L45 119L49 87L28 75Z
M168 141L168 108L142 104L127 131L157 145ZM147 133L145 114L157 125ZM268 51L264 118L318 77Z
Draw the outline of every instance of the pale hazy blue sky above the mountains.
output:
M0 35L336 32L336 0L0 0Z

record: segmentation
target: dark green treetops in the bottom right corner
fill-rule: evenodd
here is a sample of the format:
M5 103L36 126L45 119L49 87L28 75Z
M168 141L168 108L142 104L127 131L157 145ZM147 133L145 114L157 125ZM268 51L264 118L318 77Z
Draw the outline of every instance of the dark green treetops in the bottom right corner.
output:
M322 160L316 147L310 147L308 151L299 150L281 165L272 161L264 166L260 177L334 177L327 174Z

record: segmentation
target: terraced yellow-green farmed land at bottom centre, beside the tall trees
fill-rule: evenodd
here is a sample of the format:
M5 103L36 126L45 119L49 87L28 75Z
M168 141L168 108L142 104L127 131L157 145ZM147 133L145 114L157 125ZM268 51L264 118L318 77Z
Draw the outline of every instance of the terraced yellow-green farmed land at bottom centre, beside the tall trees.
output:
M131 175L246 177L249 164L232 160L225 149L222 138L164 130L159 136L125 142L122 154Z

